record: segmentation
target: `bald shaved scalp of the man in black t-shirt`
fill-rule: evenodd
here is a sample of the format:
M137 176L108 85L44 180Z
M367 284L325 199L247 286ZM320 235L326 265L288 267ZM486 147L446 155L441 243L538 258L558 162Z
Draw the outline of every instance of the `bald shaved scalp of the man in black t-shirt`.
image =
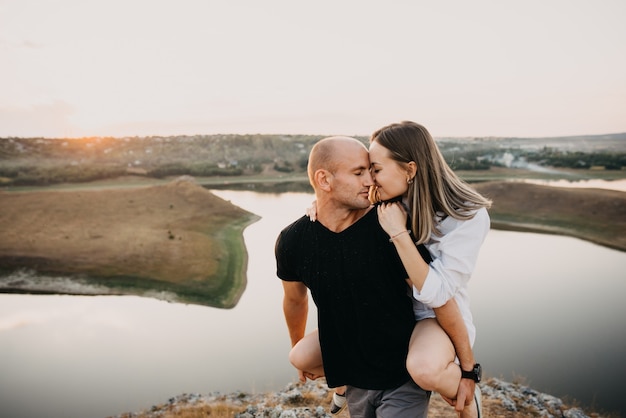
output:
M367 147L362 142L349 136L330 136L317 142L309 154L307 173L309 181L315 188L313 177L317 170L327 170L331 173L337 171L341 161L351 153L367 152Z

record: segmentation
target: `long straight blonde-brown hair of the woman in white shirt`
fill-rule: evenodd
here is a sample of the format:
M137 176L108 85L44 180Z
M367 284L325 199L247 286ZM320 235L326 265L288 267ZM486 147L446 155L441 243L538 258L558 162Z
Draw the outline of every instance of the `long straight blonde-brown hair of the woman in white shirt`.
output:
M409 184L408 204L411 229L422 244L437 229L439 217L460 220L474 217L480 208L490 208L491 200L482 196L452 171L428 130L410 121L393 123L376 132L370 143L378 142L390 152L391 158L405 167L414 161L415 178Z

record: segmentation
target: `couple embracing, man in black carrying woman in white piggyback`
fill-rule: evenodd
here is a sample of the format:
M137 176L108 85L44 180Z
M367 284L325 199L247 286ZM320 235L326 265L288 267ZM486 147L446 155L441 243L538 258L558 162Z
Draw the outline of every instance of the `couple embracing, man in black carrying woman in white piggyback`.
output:
M301 380L326 377L331 412L426 417L432 391L480 417L468 280L491 202L459 179L414 122L368 149L324 138L309 155L315 205L276 241L283 310ZM308 292L318 329L305 335Z

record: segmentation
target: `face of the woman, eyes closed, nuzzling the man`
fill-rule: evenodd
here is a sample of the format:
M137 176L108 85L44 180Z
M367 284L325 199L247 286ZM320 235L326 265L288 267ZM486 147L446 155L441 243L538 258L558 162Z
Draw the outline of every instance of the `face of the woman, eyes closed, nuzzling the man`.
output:
M370 167L381 200L403 196L409 189L409 173L390 157L389 150L378 142L370 144Z

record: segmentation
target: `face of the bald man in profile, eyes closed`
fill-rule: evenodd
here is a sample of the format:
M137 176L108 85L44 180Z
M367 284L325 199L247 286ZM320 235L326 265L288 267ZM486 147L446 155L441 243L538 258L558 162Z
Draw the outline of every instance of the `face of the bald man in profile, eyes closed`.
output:
M347 144L338 147L337 159L337 168L329 175L334 200L350 209L369 207L368 192L373 180L367 149Z

